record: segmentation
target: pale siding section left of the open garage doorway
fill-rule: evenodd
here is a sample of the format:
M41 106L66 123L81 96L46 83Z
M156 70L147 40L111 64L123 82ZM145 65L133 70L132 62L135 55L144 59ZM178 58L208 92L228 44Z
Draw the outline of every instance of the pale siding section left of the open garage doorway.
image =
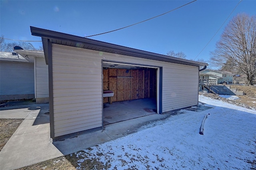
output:
M54 136L102 126L101 59L53 45Z

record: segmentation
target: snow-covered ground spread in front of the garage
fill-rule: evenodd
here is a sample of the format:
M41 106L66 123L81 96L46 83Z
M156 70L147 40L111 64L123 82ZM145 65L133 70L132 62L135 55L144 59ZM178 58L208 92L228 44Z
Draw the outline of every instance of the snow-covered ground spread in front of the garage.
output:
M80 168L96 161L118 170L255 169L250 162L256 161L256 111L205 96L199 101L212 108L180 110L154 127L76 152Z

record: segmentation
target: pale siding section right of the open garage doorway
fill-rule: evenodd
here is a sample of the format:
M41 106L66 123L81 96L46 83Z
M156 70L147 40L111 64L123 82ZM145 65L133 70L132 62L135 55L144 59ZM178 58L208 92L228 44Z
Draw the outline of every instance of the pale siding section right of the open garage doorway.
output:
M164 63L163 112L198 104L198 67Z

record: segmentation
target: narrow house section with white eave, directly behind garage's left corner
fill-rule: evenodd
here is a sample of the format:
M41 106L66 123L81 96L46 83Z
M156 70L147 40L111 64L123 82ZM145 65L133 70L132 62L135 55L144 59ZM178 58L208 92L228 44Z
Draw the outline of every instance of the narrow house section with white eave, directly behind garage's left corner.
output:
M28 62L34 64L34 91L37 104L49 102L48 65L43 51L15 50Z

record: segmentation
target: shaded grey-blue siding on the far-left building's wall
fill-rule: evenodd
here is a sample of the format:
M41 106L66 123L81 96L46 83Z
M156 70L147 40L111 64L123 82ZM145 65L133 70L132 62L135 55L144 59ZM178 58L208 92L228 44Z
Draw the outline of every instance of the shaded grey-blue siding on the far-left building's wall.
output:
M33 63L0 61L0 95L34 93Z

